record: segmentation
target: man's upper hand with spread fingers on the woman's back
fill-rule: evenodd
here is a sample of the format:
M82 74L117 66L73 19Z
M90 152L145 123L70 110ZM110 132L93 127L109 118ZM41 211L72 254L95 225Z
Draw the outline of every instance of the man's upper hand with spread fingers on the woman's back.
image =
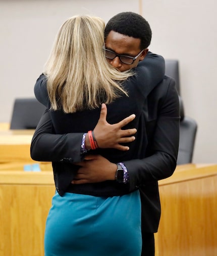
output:
M99 148L115 148L119 150L129 150L128 146L123 146L120 143L132 142L135 140L134 135L136 129L122 130L122 127L131 122L135 115L132 114L122 121L110 124L106 121L107 108L103 103L101 106L101 112L99 120L93 130L95 139ZM86 136L85 147L90 149L89 138Z

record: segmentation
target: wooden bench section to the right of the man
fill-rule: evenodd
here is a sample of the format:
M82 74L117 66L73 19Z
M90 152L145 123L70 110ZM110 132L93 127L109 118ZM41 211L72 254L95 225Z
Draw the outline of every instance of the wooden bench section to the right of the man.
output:
M217 255L217 165L178 166L159 182L156 256Z

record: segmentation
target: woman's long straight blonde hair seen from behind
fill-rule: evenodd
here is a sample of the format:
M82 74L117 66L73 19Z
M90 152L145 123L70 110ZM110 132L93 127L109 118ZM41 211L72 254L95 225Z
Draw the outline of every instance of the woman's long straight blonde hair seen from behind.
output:
M121 86L133 73L120 72L104 57L104 21L73 16L61 26L45 64L51 109L74 113L111 103L127 92Z

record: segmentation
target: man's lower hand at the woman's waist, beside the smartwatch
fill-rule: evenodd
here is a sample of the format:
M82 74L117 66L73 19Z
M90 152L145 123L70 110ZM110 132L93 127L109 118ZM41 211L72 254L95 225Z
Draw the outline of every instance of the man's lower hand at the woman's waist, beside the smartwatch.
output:
M101 155L87 155L80 165L72 184L97 183L107 180L115 180L117 165L111 163Z

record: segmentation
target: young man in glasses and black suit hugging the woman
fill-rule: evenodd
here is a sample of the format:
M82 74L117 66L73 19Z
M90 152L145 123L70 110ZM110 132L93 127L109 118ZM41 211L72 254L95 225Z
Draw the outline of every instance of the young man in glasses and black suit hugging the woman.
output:
M142 16L131 12L120 13L105 26L105 56L108 62L121 72L135 68L137 65L142 65L145 56L149 55L147 48L150 40L151 30ZM151 77L147 77L148 79L151 80ZM137 139L142 141L141 148L138 148L139 157L121 162L121 168L124 169L123 173L129 189L138 188L140 191L143 240L141 255L152 256L154 255L153 233L157 232L160 218L157 181L171 176L176 167L179 144L179 100L175 82L168 77L158 84L147 84L146 94L142 119L144 130L136 135ZM120 147L120 143L125 142L122 140L123 136L127 136L117 135L123 125L123 123L108 125L106 107L102 108L100 119L94 129L98 146L103 147L103 138L106 140L110 138L112 147ZM85 157L91 161L81 161L82 134L51 135L50 127L49 113L46 112L32 140L31 152L34 159L49 161L60 159L61 163L78 162L77 164L82 167L78 170L73 184L110 180L111 173L115 180L117 165L106 158L92 155ZM129 135L132 134L131 131ZM37 151L39 155L34 155L36 148L43 150L44 157L40 155L40 150ZM88 136L86 136L85 148L90 148ZM121 180L124 180L124 175Z

